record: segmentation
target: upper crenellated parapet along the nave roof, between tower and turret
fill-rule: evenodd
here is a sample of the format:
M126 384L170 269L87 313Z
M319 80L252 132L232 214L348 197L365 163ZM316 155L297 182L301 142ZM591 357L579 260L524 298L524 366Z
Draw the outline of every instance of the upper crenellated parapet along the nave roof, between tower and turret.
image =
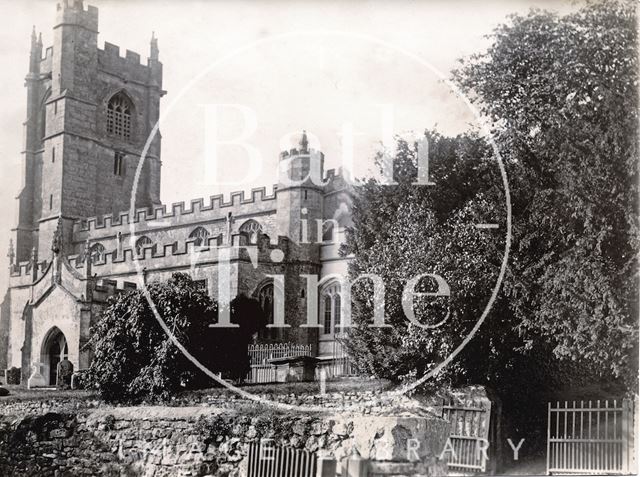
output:
M104 215L102 217L89 217L79 220L74 224L74 234L100 230L102 235L125 232L125 228L131 224L137 224L136 230L158 227L159 225L188 224L198 220L223 219L229 212L232 215L250 214L255 211L270 211L275 208L276 186L273 192L267 194L265 187L253 189L249 195L244 191L232 192L225 200L222 194L211 196L207 203L205 200L194 199L188 205L185 202L176 202L170 207L160 205L149 209L138 209L132 217L128 211L117 215ZM86 235L86 234L85 234ZM82 236L84 237L84 235ZM81 239L82 237L76 237Z

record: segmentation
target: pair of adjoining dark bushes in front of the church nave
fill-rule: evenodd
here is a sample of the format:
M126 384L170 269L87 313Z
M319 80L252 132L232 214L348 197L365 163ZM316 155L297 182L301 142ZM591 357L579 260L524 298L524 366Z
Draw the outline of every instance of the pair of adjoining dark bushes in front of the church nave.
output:
M175 273L146 288L169 330L200 362L225 377L246 375L247 344L264 325L255 300L231 302L231 322L240 328L210 328L218 305L189 276ZM166 400L181 389L213 384L163 331L142 290L110 299L92 328L91 346L85 382L108 401Z

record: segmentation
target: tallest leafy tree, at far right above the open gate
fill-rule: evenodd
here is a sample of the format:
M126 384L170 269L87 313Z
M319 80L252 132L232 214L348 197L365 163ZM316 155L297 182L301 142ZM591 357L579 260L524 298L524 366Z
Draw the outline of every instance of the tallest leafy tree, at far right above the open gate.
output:
M514 15L455 72L494 125L514 190L505 290L535 350L637 377L636 7ZM534 339L542 336L542 340ZM541 351L538 349L537 351Z

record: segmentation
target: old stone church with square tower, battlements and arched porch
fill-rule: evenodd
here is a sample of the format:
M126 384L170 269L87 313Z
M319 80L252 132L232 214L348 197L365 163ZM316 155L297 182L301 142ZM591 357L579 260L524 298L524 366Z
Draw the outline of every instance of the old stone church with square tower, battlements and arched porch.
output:
M114 44L100 48L98 9L81 0L57 6L52 46L43 51L32 34L22 185L0 307L0 369L20 368L23 382L37 370L42 385L55 384L65 357L86 369L91 327L123 290L183 272L218 298L221 257L230 297L255 297L270 320L274 276L285 290L291 326L269 328L258 342L306 345L327 360L336 353L349 261L340 254L352 197L345 174L324 171L323 154L303 133L280 155L290 180L163 204L159 134L136 178L166 94L159 58L154 37L146 64ZM322 180L310 180L311 171ZM308 277L318 284L312 293ZM309 300L317 301L317 327L300 326Z

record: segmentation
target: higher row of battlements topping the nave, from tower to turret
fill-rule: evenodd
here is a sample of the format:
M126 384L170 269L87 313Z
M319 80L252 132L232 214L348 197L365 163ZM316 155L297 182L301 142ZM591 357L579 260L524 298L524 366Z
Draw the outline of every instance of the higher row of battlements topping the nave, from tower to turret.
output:
M160 205L153 210L138 209L134 217L130 217L128 211L120 212L118 215L104 215L100 217L89 217L84 220L77 221L74 224L74 233L89 232L98 229L111 229L116 227L125 227L134 224L142 224L142 226L151 226L151 221L165 221L166 219L177 219L179 217L191 218L194 215L204 215L207 218L223 218L226 217L227 209L241 208L242 206L255 206L256 204L269 202L270 206L275 206L277 186L273 186L273 192L267 194L265 187L252 189L247 197L244 191L232 192L229 200L225 200L222 194L209 197L208 203L205 205L203 198L193 199L189 206L186 207L184 202L175 202L168 209L166 205ZM186 217L190 216L190 217ZM176 223L177 220L176 220Z

